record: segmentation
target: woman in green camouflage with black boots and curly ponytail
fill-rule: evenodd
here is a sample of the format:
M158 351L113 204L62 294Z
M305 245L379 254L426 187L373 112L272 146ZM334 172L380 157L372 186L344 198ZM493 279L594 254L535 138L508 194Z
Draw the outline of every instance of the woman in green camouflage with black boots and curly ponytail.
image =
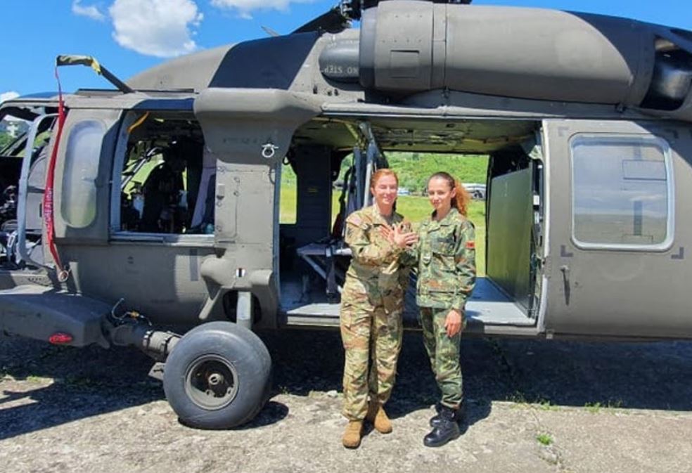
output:
M466 325L464 304L475 284L475 233L466 218L470 197L446 172L428 180L428 197L434 211L418 229L417 244L400 258L417 264L416 304L421 310L423 342L430 356L437 387L442 391L439 414L432 417L432 432L425 446L442 446L460 435L463 391L459 344ZM391 242L401 233L390 232Z

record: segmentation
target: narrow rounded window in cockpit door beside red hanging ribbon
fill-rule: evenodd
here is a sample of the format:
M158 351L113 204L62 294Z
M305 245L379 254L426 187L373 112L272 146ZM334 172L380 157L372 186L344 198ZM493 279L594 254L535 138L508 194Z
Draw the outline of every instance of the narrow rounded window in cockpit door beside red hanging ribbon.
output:
M68 136L60 214L74 228L85 228L96 218L98 157L104 135L102 122L84 120L75 124Z

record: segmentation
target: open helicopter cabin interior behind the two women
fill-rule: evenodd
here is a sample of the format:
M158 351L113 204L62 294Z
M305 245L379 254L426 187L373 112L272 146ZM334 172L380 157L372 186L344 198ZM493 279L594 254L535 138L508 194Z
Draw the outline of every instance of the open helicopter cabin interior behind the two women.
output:
M535 325L544 218L539 130L540 122L532 120L324 116L300 127L281 179L287 187L282 210L295 205L295 214L290 209L283 215L280 227L285 323L338 323L350 257L343 222L371 203L369 179L388 167L387 153L407 152L489 157L485 222L475 222L477 235L484 233L478 240L485 240L485 274L478 277L466 313L470 326L480 331L485 325ZM406 198L428 205L422 195ZM417 326L414 273L404 323Z

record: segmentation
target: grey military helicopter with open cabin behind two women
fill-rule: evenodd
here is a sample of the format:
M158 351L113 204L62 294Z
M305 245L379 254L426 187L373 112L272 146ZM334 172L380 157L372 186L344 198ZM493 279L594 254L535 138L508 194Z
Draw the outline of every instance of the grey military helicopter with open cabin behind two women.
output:
M468 333L691 338L692 32L467 3L345 0L127 82L60 56L115 89L0 108L30 122L1 150L0 331L137 346L183 422L241 425L271 368L252 330L338 326L339 222L424 151L490 157Z

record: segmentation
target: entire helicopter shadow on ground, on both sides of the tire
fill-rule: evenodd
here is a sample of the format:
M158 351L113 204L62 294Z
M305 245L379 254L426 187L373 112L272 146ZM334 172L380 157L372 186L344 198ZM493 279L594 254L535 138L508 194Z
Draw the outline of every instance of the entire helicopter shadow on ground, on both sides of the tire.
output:
M338 332L260 335L274 361L273 395L338 396L343 368ZM134 349L0 340L0 376L5 377L0 439L165 399L160 382L147 376L151 363ZM493 401L692 410L692 342L464 339L462 363L468 425L487 417ZM437 396L421 335L408 332L388 413L401 417L429 408ZM270 401L245 428L281 422L287 415L287 406Z

